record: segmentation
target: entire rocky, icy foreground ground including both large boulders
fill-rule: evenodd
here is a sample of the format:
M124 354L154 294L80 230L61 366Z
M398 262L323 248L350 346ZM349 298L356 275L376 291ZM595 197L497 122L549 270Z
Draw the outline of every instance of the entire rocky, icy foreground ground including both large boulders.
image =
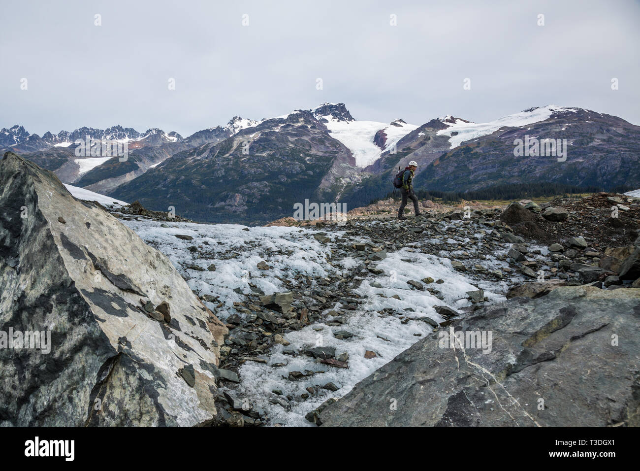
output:
M638 198L246 227L0 177L0 329L52 338L0 350L6 425L637 425Z

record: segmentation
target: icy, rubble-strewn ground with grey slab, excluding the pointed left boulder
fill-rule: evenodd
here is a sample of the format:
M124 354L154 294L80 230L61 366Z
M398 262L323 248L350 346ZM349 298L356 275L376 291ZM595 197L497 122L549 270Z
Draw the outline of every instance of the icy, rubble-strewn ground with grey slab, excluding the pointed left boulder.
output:
M522 203L406 222L369 207L312 228L121 217L229 328L223 424L636 424L640 199ZM450 327L492 331L491 354L443 350Z

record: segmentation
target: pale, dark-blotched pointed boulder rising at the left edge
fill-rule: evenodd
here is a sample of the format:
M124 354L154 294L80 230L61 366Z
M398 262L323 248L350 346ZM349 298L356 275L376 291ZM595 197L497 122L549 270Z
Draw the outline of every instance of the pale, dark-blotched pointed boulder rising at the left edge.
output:
M227 328L168 258L16 154L0 181L0 330L45 340L0 349L0 426L213 422Z

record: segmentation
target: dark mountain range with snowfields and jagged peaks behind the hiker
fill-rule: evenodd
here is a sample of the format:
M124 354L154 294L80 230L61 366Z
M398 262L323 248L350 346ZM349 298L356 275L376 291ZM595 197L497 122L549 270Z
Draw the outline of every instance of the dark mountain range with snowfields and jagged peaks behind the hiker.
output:
M127 142L127 160L77 157L74 142L85 136ZM388 194L398 167L411 160L419 164L416 189L638 188L639 138L640 126L582 108L548 105L485 123L449 115L417 126L356 120L344 103L324 103L260 121L234 117L186 138L122 126L40 137L13 126L0 130L0 148L52 170L63 183L152 210L174 206L194 220L262 224L292 215L293 204L305 199L364 206ZM545 154L545 139L557 143L557 155L548 146ZM515 151L516 142L525 143L525 154Z

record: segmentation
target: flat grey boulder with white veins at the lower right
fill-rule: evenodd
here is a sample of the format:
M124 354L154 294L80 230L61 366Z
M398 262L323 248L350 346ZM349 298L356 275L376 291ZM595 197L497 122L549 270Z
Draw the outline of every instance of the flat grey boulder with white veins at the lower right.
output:
M639 312L636 288L564 286L509 299L452 324L484 335L484 348L435 331L328 405L319 422L640 426Z

